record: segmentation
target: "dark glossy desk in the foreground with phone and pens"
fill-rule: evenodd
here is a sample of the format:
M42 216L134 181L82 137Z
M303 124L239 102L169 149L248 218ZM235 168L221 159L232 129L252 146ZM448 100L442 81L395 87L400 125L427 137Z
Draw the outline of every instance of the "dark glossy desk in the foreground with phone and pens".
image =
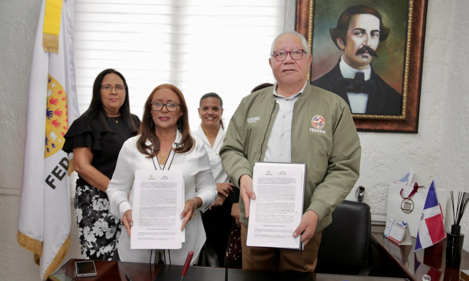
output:
M150 265L125 262L94 261L96 277L75 277L75 262L81 259L70 259L54 274L66 273L77 281L127 281L124 272L127 271L133 281L180 281L182 266ZM47 279L50 280L50 279ZM183 281L224 281L225 269L190 267ZM228 270L229 281L405 281L399 278L362 277L326 274L304 274L286 272L261 272L249 270Z

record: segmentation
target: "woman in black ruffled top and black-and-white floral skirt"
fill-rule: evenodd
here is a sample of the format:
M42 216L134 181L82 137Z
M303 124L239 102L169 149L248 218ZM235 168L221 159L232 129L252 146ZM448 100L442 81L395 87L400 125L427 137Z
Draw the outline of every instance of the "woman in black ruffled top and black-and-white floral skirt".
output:
M94 80L88 110L65 134L63 150L74 156L79 179L75 193L82 258L112 260L120 235L119 218L109 213L106 189L123 143L135 136L140 125L130 113L125 78L113 69Z

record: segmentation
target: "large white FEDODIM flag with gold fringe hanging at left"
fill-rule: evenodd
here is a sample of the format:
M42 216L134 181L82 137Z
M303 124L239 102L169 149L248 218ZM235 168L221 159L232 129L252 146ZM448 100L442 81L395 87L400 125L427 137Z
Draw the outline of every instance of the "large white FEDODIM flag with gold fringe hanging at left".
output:
M62 147L69 125L79 116L73 64L74 1L50 0L48 4L62 6L57 19L59 51L45 52L42 46L43 0L28 88L18 218L18 243L34 253L41 280L57 269L70 246L70 159Z

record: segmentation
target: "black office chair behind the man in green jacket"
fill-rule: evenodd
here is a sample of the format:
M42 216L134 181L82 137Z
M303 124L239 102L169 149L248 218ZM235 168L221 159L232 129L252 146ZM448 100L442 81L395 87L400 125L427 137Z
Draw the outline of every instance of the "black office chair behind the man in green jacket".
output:
M332 212L322 233L316 273L368 276L371 247L370 206L345 200Z

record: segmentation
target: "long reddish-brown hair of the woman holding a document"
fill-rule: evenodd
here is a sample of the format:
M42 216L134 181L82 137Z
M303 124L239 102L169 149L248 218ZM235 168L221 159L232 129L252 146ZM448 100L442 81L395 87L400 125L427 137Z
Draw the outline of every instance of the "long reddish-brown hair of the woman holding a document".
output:
M175 149L175 152L178 153L185 153L192 149L194 146L194 139L190 136L190 129L189 129L189 117L188 117L188 106L186 103L186 99L184 98L183 93L178 87L171 85L171 84L162 84L156 87L152 93L148 96L147 101L144 105L143 110L143 117L142 123L140 124L139 135L140 138L137 141L137 149L142 154L147 155L147 158L156 157L158 151L160 150L160 140L155 134L155 129L150 127L152 121L152 100L153 95L161 89L166 89L174 92L178 95L180 100L180 108L183 116L179 118L181 120L181 146ZM178 122L179 122L178 120ZM149 140L152 144L147 145L146 141Z

